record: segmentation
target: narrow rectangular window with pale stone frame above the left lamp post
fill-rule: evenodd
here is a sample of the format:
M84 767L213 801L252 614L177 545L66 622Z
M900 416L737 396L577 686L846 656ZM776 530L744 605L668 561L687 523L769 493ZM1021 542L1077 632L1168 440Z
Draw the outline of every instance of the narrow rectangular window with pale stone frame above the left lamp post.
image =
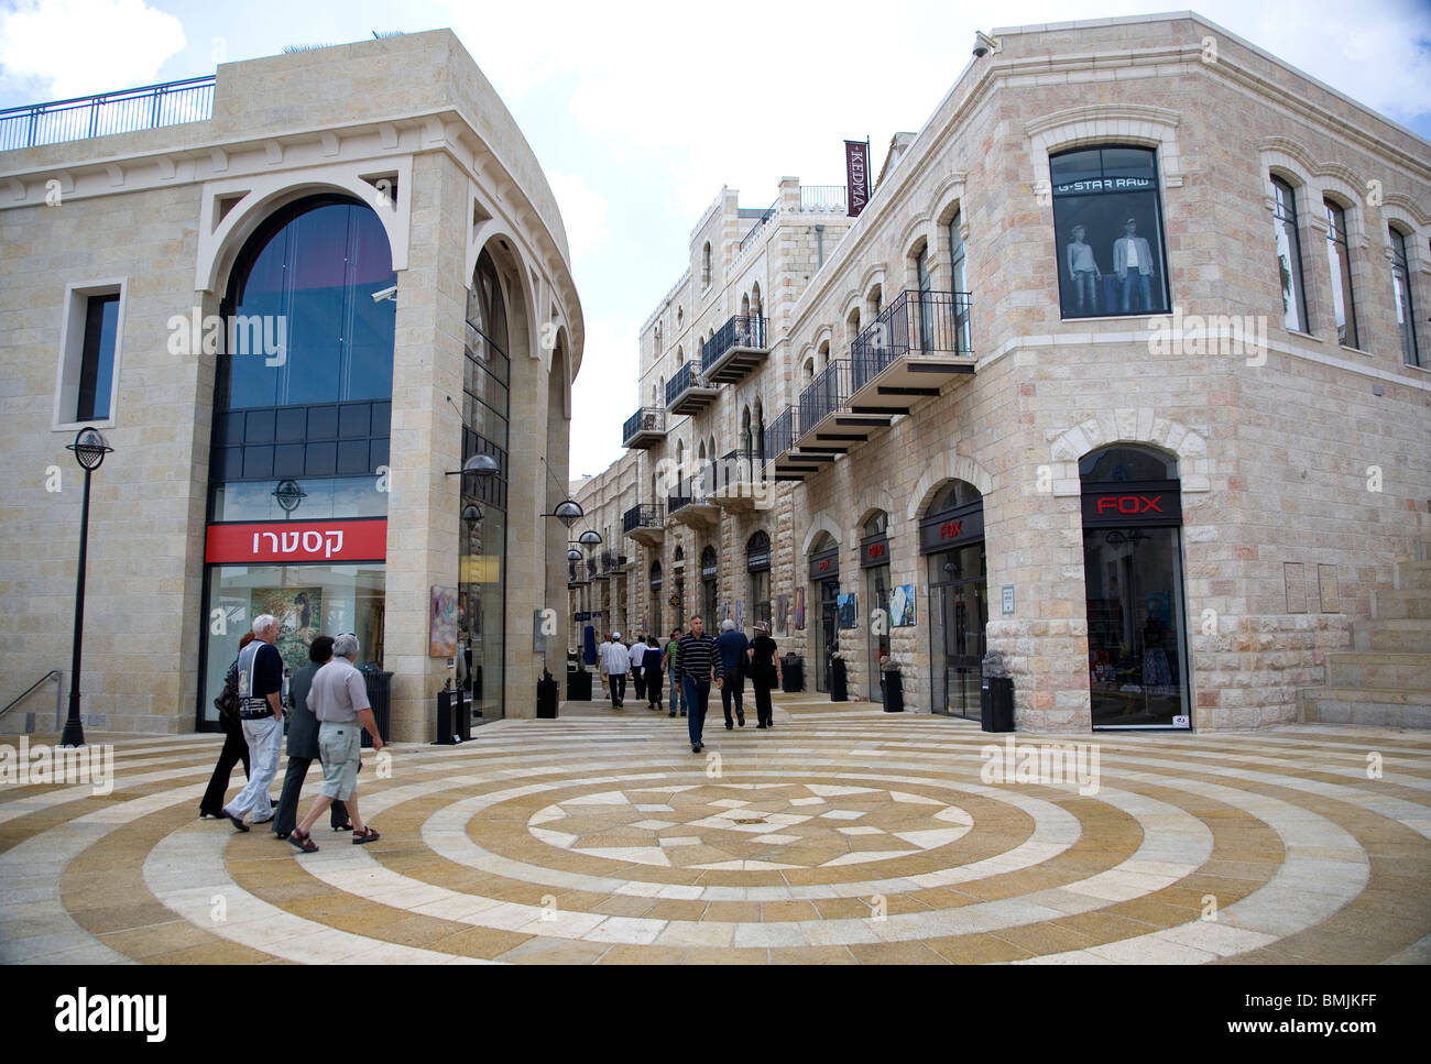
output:
M72 285L60 325L56 429L114 420L123 336L123 280Z

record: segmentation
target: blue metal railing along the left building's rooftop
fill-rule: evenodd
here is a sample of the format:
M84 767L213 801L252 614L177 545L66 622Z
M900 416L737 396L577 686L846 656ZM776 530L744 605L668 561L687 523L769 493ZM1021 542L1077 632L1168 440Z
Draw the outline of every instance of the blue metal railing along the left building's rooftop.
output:
M215 76L0 110L0 152L213 117Z

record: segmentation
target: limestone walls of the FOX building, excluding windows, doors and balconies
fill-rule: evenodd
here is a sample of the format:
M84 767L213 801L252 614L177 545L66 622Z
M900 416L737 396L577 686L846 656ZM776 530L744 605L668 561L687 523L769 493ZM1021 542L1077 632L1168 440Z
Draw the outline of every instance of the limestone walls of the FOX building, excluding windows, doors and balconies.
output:
M849 359L859 329L919 289L920 255L930 289L952 290L956 216L975 372L914 398L907 415L801 482L771 485L773 498L751 509L713 508L705 526L663 515L651 545L628 541L643 576L627 581L627 615L648 608L644 573L654 561L663 595L671 593L677 548L684 614L700 608L690 571L707 543L720 553L721 601L747 596L746 543L764 531L770 595L793 599L803 588L807 596L804 628L776 635L781 652L804 654L809 686L817 652L810 552L821 532L839 543L841 591L849 578L866 614L859 543L881 511L892 582L913 583L917 601L916 624L890 632L890 654L906 708L927 712L934 664L917 522L943 486L963 481L983 501L985 635L1015 679L1016 724L1088 731L1079 460L1136 445L1176 465L1191 726L1292 721L1296 689L1324 681L1327 654L1349 648L1371 589L1390 582L1398 558L1424 549L1431 531L1431 146L1198 16L992 36L997 49L966 66L913 139L902 134L861 217L826 220L823 257L813 226L787 212L798 203L788 180L757 259L748 245L740 250L734 193L724 190L700 220L690 270L640 336L641 406L663 405L655 396L674 362L698 358L694 338L740 313L757 280L770 353L738 383L720 385L707 410L668 413L664 438L628 453L638 472L618 478L624 505L664 505L671 478L661 481L661 471L680 462L688 479L703 443L716 456L741 446L741 413L757 396L767 426L798 406L811 370ZM1156 157L1172 313L1073 317L1060 303L1068 236L1055 230L1049 160L1119 146ZM1274 179L1295 194L1305 332L1284 325ZM1327 203L1345 217L1355 348L1338 342ZM1402 352L1394 233L1407 250L1420 365ZM1209 316L1245 317L1261 338L1255 349L1198 336L1192 323ZM747 601L747 631L751 616ZM841 632L854 698L870 694L873 638L864 624Z

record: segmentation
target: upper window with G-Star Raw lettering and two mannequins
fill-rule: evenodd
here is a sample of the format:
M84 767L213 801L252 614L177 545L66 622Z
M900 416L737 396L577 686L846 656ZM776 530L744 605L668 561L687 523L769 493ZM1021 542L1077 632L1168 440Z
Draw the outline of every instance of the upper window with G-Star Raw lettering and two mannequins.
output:
M1168 310L1168 256L1149 147L1080 147L1049 157L1063 317Z

